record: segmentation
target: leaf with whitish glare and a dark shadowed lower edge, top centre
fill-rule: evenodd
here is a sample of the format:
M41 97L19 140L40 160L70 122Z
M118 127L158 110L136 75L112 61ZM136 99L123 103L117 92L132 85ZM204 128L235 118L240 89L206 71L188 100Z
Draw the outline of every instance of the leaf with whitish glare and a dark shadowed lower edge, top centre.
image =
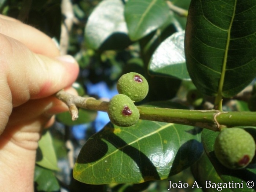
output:
M92 49L123 49L131 44L121 0L103 0L85 26L85 42Z

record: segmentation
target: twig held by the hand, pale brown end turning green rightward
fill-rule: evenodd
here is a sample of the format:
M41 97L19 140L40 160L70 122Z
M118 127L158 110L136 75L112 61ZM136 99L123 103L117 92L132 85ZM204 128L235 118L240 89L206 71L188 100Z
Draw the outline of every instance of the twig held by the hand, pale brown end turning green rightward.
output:
M74 96L65 91L59 91L56 97L72 109L70 113L73 120L78 117L77 107L107 112L109 105L107 101L96 100L92 97ZM256 126L256 112L182 110L145 106L137 106L137 108L140 112L140 119L198 126L213 131L220 131L224 127Z

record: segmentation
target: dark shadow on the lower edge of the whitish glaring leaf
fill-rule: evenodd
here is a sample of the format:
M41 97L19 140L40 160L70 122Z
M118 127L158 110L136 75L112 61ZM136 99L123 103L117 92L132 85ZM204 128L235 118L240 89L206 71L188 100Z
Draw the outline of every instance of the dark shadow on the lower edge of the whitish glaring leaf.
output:
M132 44L132 41L126 33L116 32L111 34L99 47L99 50L124 49Z

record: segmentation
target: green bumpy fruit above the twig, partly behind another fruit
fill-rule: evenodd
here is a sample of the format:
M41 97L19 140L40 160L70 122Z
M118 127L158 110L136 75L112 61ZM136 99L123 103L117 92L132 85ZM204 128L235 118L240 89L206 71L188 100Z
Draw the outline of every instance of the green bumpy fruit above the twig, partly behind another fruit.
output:
M141 101L149 92L149 84L139 73L130 72L122 75L117 82L117 91L127 95L133 101Z

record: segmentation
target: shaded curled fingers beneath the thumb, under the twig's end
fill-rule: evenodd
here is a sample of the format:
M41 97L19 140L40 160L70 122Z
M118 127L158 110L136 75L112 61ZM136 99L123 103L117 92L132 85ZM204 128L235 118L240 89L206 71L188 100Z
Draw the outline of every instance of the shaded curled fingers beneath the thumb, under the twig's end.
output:
M66 91L77 95L73 88ZM54 114L67 110L67 106L54 96L29 100L25 104L13 108L6 129L0 136L0 148L1 144L5 145L3 140L11 139L12 143L19 147L36 150L43 128L54 123Z

